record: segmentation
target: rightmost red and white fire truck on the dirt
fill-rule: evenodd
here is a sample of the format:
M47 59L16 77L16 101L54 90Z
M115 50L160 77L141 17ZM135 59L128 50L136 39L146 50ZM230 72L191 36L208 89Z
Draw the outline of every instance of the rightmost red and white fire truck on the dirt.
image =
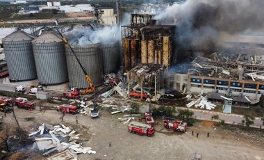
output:
M187 123L183 120L176 120L174 118L165 118L164 119L164 127L167 129L173 129L176 131L186 131Z

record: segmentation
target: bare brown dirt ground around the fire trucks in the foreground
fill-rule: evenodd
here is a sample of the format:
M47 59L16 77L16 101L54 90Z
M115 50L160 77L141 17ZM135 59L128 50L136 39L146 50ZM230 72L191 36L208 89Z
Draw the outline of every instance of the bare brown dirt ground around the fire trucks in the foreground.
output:
M44 103L43 106L47 107L43 112L39 111L39 107L33 112L15 108L20 126L33 132L42 123L61 123L61 113L52 107L56 104ZM28 116L35 119L26 121ZM185 133L179 133L165 129L162 121L158 120L155 135L147 137L131 134L127 124L117 120L123 117L121 113L111 115L109 111L101 111L100 118L94 119L88 115L77 115L78 124L75 116L66 114L63 124L83 133L80 142L97 152L78 154L79 159L191 159L195 152L201 153L203 159L264 159L263 132L262 136L248 134L239 129L216 127L212 122L204 121L188 127ZM14 122L12 113L3 122Z

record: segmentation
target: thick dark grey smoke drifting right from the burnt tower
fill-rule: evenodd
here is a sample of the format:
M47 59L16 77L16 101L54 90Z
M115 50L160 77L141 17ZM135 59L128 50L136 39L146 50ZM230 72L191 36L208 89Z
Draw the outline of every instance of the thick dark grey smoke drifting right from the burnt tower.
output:
M220 33L258 31L264 26L263 0L188 0L157 15L159 24L176 19L181 45L214 47Z

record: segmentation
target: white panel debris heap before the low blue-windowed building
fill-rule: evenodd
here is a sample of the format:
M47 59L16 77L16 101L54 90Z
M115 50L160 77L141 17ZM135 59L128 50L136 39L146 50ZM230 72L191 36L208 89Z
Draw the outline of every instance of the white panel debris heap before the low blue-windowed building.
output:
M186 104L186 106L188 108L190 108L191 106L195 106L195 108L200 107L200 109L211 110L211 109L215 109L216 105L212 104L211 102L208 102L206 97L199 95L199 98L196 101L192 101Z

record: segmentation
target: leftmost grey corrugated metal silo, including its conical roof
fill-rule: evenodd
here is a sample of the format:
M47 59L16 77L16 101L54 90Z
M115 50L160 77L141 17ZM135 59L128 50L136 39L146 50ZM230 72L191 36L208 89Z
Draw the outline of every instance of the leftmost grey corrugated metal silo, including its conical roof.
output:
M3 50L10 79L15 81L37 79L31 44L33 38L24 31L15 31L3 38Z

